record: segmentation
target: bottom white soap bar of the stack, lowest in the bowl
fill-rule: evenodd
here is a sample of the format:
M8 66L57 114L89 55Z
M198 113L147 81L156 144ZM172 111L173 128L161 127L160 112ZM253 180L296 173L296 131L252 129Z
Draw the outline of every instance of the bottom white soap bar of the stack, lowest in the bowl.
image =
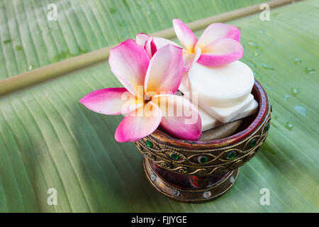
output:
M253 100L252 104L250 104L250 106L248 106L244 111L242 111L240 114L237 114L237 116L235 116L235 118L232 118L232 119L230 119L230 121L225 122L225 123L237 121L241 118L245 118L247 116L255 114L257 112L257 107L258 107L257 101ZM216 120L216 118L213 118L213 116L211 116L206 111L201 109L201 107L198 107L198 113L201 116L201 131L202 132L225 124L223 122Z

